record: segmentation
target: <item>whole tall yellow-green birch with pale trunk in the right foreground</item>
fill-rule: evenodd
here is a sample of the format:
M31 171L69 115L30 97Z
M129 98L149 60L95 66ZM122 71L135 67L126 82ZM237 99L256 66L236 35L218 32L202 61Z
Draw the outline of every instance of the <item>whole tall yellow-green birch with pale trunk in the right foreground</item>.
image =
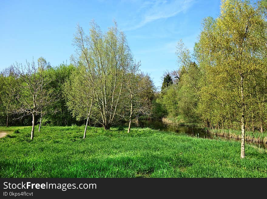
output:
M264 32L264 20L258 8L249 1L225 0L220 16L206 20L200 35L201 53L210 59L205 71L209 73L210 86L215 89L208 90L216 96L216 107L221 107L219 110L232 107L240 118L241 158L245 158L246 107L251 93L248 82L253 71L262 68L259 49L265 43Z

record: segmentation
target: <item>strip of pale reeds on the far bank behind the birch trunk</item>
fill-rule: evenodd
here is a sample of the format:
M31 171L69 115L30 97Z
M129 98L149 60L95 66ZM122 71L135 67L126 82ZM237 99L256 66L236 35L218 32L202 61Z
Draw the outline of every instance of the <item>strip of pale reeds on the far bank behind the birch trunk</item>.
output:
M210 133L219 135L226 138L234 138L236 140L241 139L241 131L232 130L232 129L210 129ZM252 131L245 131L245 140L248 142L254 143L264 143L267 144L267 132L252 132Z

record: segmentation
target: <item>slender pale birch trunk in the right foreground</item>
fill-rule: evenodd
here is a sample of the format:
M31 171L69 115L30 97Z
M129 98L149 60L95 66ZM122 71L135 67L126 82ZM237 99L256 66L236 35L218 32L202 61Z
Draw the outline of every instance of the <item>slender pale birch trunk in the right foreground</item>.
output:
M241 75L240 91L241 91L241 155L240 158L245 158L245 101L244 101L244 84L243 75Z

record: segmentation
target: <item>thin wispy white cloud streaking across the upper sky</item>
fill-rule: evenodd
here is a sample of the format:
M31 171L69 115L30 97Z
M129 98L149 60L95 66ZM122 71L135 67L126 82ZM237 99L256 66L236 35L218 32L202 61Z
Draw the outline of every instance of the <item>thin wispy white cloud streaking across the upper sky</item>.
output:
M186 10L194 3L194 0L155 0L153 2L143 2L138 9L140 20L127 30L135 30L144 25L162 18L169 18Z

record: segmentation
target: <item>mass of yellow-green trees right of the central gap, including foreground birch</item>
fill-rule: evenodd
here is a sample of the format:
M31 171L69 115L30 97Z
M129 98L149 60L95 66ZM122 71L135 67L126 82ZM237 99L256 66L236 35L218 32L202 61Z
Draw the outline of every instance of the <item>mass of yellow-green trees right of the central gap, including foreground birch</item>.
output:
M178 43L181 67L162 91L171 117L241 130L241 158L245 130L267 127L266 8L266 1L222 1L218 18L203 20L193 55Z

